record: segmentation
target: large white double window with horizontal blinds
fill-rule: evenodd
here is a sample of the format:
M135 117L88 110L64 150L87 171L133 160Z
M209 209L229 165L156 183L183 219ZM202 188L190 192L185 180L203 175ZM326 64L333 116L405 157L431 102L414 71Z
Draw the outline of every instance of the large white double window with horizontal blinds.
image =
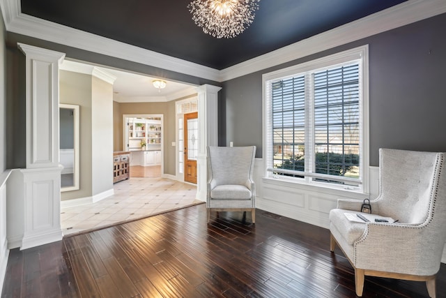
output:
M367 46L263 82L268 177L367 191Z

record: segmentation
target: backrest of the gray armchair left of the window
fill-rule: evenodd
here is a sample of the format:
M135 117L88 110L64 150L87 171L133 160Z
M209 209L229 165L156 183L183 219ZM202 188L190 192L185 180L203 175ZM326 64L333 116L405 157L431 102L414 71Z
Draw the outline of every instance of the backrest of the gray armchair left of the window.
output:
M234 184L250 187L254 171L255 146L208 147L208 168L216 185Z

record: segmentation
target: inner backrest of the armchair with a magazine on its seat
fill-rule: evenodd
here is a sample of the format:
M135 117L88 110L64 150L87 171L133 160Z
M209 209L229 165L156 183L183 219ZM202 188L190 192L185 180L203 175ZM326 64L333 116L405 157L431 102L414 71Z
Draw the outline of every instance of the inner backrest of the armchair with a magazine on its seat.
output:
M435 152L380 149L378 213L401 223L423 223L429 215Z

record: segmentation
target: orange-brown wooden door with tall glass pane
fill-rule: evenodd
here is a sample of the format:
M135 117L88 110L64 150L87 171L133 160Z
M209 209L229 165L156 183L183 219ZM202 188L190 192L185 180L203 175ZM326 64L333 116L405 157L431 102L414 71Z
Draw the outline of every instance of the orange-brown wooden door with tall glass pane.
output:
M184 114L184 181L197 184L198 112Z

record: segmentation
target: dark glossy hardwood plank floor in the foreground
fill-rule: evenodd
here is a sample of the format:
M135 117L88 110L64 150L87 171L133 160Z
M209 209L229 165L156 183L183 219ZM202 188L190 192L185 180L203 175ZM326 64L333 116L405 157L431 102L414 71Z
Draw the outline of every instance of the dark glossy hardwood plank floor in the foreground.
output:
M355 297L353 269L329 238L262 210L255 225L236 212L207 225L201 204L13 249L2 297ZM437 297L445 289L442 264ZM363 297L429 296L421 282L366 277Z

